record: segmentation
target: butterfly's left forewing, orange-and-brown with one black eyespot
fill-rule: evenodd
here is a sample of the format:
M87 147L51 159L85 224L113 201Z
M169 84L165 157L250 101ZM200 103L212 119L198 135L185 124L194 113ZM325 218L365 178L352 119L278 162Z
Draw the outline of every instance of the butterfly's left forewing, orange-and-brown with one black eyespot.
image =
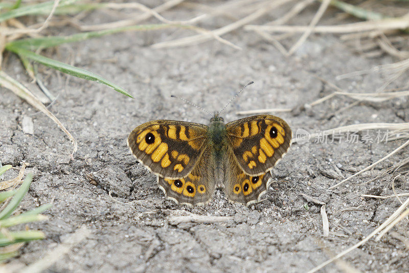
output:
M204 124L153 120L139 125L128 136L132 154L153 173L166 178L188 175L207 142Z

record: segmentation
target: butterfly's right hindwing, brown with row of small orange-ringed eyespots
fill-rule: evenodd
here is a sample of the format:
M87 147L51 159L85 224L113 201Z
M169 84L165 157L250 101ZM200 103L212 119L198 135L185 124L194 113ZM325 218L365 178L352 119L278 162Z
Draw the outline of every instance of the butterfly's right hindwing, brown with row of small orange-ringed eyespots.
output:
M233 158L231 148L227 158ZM236 160L226 160L227 168L224 171L224 189L230 201L250 205L260 201L272 181L268 171L261 175L250 176L243 172Z

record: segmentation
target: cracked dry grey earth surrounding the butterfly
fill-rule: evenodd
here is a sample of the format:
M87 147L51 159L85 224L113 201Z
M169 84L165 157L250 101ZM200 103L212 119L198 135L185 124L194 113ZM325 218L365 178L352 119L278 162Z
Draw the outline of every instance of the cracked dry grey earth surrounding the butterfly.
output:
M300 22L295 23L308 22L313 13L297 18ZM178 17L176 12L167 15ZM95 23L100 17L96 12L88 20ZM26 161L34 174L20 209L54 203L45 213L48 221L29 224L30 228L43 230L46 239L25 245L10 265L18 268L40 260L85 226L89 236L47 272L300 272L360 241L400 205L396 199L364 199L360 195L391 194L392 177L388 174L362 182L407 158L407 149L333 191L326 189L342 176L347 177L393 151L403 143L401 140L379 144L293 144L272 171L275 182L265 199L250 207L229 203L219 191L204 207L178 206L165 200L155 176L130 154L126 138L134 127L152 119L208 123L205 113L170 98L171 94L214 111L246 82L254 80L254 85L225 111L228 122L242 117L235 114L238 110L300 109L304 103L334 91L314 75L349 92L373 92L383 84L382 74L339 81L335 77L394 61L388 56L363 58L330 35L311 35L288 58L251 32L225 35L242 51L217 41L180 49L153 50L146 46L171 33L129 32L59 48L58 57L53 57L73 58L77 67L103 75L135 97L131 99L73 77L65 85L64 75L43 70L51 75L44 80L48 88L58 94L49 109L78 141L73 161L68 156L72 145L61 130L28 103L0 88L0 158L3 164L13 166ZM286 46L294 41L289 40ZM30 81L15 56L9 57L4 69L21 81ZM403 86L403 80L391 88ZM337 112L352 102L334 97L312 109L273 114L285 119L294 133L299 128L312 133L357 122L409 121L406 99L359 103ZM33 119L33 135L21 130L25 116ZM16 174L11 170L5 179ZM398 193L408 190L408 185L399 181L395 187ZM326 203L328 238L323 237L321 205L300 194ZM175 216L191 214L229 218L219 223L172 221ZM404 220L381 241L370 240L343 260L362 271L407 271L409 259L401 240L407 236ZM330 264L323 271L336 272L341 268Z

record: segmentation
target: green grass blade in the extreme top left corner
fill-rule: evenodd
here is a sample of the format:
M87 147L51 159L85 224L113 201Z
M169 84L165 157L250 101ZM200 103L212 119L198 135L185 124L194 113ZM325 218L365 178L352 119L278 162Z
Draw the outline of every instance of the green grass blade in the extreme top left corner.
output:
M70 5L76 2L77 0L61 0L59 3L59 7ZM4 12L0 14L0 22L5 20L16 18L24 15L30 14L49 14L53 8L54 1L39 3L35 5L24 5L17 9L12 9L10 11Z

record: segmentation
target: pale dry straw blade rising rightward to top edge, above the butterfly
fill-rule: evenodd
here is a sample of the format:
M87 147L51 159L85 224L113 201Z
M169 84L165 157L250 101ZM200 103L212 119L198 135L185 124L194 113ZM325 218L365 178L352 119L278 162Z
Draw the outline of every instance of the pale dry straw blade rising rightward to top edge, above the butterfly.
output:
M216 36L221 36L224 35L226 33L229 33L233 30L236 30L246 24L248 24L249 22L252 22L254 20L256 20L257 18L263 16L264 14L266 14L268 11L277 8L287 2L290 2L292 0L278 0L275 1L274 3L267 3L265 4L264 7L258 9L257 11L245 16L244 18L241 18L239 20L237 20L236 22L224 26L222 28L216 29L216 30L212 30L209 33L203 33L203 34L198 34L198 35L193 35L193 36L189 36L189 37L184 37L184 38L180 38L180 39L176 39L176 40L171 40L171 41L165 41L162 43L157 43L152 45L152 48L158 49L158 48L170 48L170 47L184 47L184 46L190 46L190 45L194 45L194 44L200 44L203 43L205 41L208 41L210 39L212 39L215 35Z

